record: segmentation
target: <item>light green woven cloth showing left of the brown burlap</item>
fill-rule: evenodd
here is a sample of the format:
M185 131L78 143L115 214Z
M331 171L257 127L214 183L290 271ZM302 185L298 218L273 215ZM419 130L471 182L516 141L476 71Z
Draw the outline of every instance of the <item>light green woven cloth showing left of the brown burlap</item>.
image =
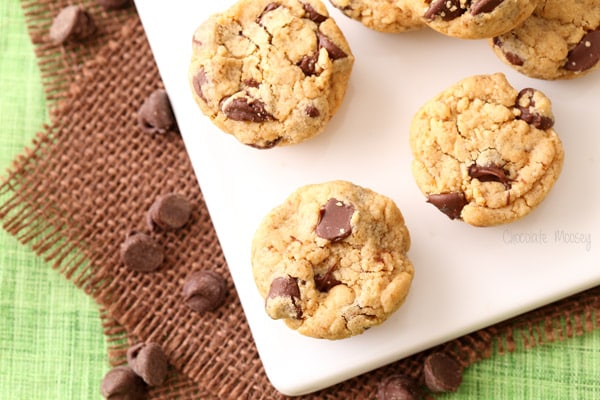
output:
M16 0L0 2L0 170L48 119ZM95 399L108 369L96 303L0 230L0 399Z

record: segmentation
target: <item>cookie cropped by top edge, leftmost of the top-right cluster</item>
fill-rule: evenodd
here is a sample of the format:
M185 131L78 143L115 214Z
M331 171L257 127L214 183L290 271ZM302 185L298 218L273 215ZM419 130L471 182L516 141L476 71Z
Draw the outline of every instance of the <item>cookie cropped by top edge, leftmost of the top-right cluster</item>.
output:
M329 0L348 17L367 28L389 33L425 27L413 0Z

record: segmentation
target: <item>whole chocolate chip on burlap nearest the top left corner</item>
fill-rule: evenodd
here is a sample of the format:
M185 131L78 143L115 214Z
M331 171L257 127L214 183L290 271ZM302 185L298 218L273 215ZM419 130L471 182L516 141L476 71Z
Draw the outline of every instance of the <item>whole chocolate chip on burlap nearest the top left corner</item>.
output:
M61 44L68 40L80 41L96 31L92 16L82 7L71 5L63 8L52 21L50 40Z

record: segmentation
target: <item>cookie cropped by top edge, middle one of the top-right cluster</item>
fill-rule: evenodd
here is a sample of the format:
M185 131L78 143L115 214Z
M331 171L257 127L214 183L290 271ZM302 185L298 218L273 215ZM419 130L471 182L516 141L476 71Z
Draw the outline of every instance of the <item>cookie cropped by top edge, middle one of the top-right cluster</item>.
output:
M432 29L462 39L500 35L518 26L539 0L413 0Z

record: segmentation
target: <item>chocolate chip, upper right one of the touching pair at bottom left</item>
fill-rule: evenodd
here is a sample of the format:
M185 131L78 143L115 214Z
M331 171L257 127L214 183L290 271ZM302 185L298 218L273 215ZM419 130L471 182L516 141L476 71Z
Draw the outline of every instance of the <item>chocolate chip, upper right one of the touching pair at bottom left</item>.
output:
M169 361L157 343L138 343L130 347L127 363L149 386L160 386L167 377Z

